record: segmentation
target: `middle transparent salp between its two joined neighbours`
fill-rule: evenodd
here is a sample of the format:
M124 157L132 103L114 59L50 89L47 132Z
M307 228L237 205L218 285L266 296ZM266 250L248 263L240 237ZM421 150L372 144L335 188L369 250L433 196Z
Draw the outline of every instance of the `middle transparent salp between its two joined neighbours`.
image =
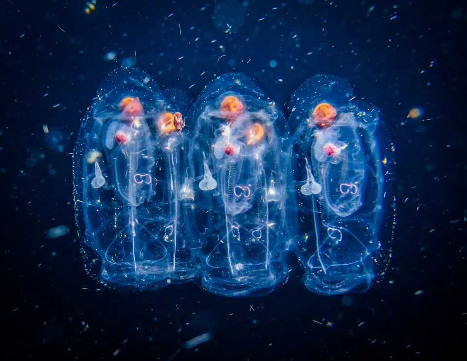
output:
M284 117L251 79L231 73L205 87L187 122L183 208L202 285L228 296L267 293L286 277Z

